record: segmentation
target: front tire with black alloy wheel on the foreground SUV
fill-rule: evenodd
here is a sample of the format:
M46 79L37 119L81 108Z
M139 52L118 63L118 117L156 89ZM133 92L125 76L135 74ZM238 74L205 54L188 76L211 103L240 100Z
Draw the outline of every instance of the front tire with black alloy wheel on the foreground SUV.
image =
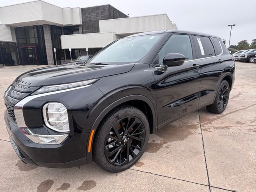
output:
M105 116L96 130L92 158L108 172L126 170L144 153L149 132L142 111L133 106L119 106Z

